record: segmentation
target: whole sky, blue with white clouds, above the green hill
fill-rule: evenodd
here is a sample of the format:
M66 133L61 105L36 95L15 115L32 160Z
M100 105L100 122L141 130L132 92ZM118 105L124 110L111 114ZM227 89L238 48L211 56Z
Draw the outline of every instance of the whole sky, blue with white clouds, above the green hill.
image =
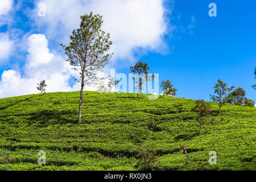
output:
M14 91L15 87L9 84L10 82L24 87L20 89L20 95L37 93L34 89L35 83L43 78L43 74L38 74L42 69L48 70L44 75L47 75L50 80L49 84L53 85L49 91L79 90L71 81L72 73L67 71L67 65L61 65L61 70L55 73L52 69L54 67L40 63L40 57L45 56L42 54L44 52L48 60L45 64L55 61L53 65L59 69L57 65L62 64L61 61L65 58L59 44L67 43L70 30L76 28L79 16L74 12L79 9L78 12L85 13L90 10L96 13L102 12L106 17L105 23L111 24L111 27L106 25L106 29L110 34L113 33L115 41L113 51L116 56L110 62L109 68L115 68L116 72L128 74L130 65L137 60L142 60L148 63L151 73L159 73L159 82L168 79L174 84L178 89L177 97L209 101L214 83L220 78L230 86L244 88L247 98L256 101L255 90L251 88L251 85L255 84L256 2L179 0L163 3L157 0L152 2L152 7L145 7L147 3L143 3L144 0L137 1L135 5L138 5L141 10L137 18L139 19L144 13L148 19L142 18L142 22L131 21L130 23L138 23L135 24L138 30L131 28L129 31L120 27L126 24L128 28L133 26L127 21L136 16L121 15L122 11L117 11L116 14L126 18L123 22L108 19L111 19L112 14L116 16L115 12L113 13L114 10L124 6L118 0L109 1L106 4L110 4L112 11L102 10L102 3L107 2L104 0L92 5L86 4L86 1L75 0L73 3L69 1L68 7L75 9L70 12L67 12L66 6L57 7L56 4L51 4L53 1L48 0L14 1L8 13L3 15L1 15L0 4L2 19L0 20L0 41L1 35L4 38L6 38L4 35L7 35L9 42L12 43L9 56L2 56L1 60L0 55L0 75L5 72L5 81L3 81L3 75L0 81L0 97L19 95L19 92ZM47 5L47 14L46 17L35 18L40 2ZM217 5L217 17L208 15L208 5L212 2ZM84 9L82 9L83 6ZM125 7L123 8L126 12ZM151 11L147 11L148 9ZM65 16L63 11L68 15ZM132 7L127 10L128 13L134 11L137 12ZM61 19L60 16L65 19ZM139 31L141 34L138 33ZM127 40L128 37L133 41ZM35 61L37 65L32 63L35 59L38 59ZM55 74L54 78L51 74ZM60 78L59 80L63 82L60 85L55 84L57 80L55 78Z

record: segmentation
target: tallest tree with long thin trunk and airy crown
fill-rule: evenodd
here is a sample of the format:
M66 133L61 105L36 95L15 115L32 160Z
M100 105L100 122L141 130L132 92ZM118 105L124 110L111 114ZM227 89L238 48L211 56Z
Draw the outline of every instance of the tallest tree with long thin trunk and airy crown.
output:
M85 85L93 85L100 79L97 73L102 71L110 57L109 53L112 42L110 34L101 30L102 16L85 14L80 16L80 28L73 30L70 36L69 46L61 46L68 56L67 61L76 71L79 70L80 78L75 79L81 82L80 102L79 102L79 124L82 121L82 92Z

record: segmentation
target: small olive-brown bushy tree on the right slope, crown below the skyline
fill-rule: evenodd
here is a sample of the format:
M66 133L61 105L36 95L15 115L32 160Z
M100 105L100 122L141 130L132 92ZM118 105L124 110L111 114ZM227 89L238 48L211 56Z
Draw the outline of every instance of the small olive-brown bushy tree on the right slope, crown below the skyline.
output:
M197 100L192 111L197 112L197 121L200 123L199 133L201 133L201 127L206 119L209 117L210 111L212 111L212 106L205 102L204 100Z

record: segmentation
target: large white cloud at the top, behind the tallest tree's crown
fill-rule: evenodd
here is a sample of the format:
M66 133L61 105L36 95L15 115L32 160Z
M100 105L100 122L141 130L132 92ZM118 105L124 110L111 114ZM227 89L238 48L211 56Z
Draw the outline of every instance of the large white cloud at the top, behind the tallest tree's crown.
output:
M114 60L132 59L136 48L158 49L167 23L163 0L40 0L33 15L38 26L46 26L49 38L68 43L69 34L79 26L80 15L93 11L104 19L103 29L110 32ZM42 5L42 4L41 4ZM44 9L46 7L46 9ZM39 16L46 11L46 16Z

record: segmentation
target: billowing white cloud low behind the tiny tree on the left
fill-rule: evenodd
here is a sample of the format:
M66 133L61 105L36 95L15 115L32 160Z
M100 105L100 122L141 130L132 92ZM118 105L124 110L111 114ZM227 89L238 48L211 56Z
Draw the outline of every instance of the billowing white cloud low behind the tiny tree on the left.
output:
M48 40L45 35L31 35L28 38L27 51L28 56L23 77L13 69L2 73L0 81L1 98L38 93L36 85L42 80L47 81L47 92L71 91L75 89L68 85L72 69L61 56L49 51Z

